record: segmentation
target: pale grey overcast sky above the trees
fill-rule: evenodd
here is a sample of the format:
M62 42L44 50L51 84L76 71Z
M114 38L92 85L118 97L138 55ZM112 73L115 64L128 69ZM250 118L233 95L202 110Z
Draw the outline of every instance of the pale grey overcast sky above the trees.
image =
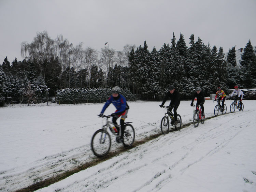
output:
M211 48L228 52L256 45L256 0L0 0L0 62L20 56L20 44L31 43L47 30L51 39L62 34L74 46L100 51L104 43L122 51L124 45L151 52L176 42L180 33L189 47L194 33Z

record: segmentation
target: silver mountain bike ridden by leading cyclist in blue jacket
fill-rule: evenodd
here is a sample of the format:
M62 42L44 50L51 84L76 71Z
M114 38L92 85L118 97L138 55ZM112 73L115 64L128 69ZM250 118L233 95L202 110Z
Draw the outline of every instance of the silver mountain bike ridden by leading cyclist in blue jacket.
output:
M97 130L93 134L93 137L91 138L91 149L97 157L105 156L110 150L111 137L108 130L116 136L116 140L121 135L121 126L108 120L111 116L102 115L101 117L105 118L106 122L101 129ZM125 147L132 146L135 138L134 128L130 123L132 122L125 122L124 139L122 142ZM119 128L119 133L116 128Z

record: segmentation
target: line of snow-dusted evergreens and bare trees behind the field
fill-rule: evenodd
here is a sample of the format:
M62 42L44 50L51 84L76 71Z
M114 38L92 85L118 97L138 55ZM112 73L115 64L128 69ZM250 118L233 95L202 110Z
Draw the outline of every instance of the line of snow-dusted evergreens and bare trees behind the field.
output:
M217 87L231 89L255 88L256 54L249 40L242 60L236 64L235 46L227 57L223 48L205 45L194 34L188 48L184 36L171 44L164 44L159 51L150 52L144 46L124 46L115 51L106 46L97 51L82 43L73 46L62 35L51 39L47 31L38 33L32 43L23 42L23 61L12 64L6 57L0 66L0 101L6 97L43 100L62 89L91 89L119 86L141 95L141 99L161 99L166 88L173 84L182 99L190 98L195 87L200 86L205 95Z

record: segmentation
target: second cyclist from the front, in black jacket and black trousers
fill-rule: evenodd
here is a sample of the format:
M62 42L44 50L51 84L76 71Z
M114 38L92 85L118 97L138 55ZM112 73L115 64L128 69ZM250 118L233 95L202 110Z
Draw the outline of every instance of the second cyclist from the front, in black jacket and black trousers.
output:
M165 98L163 99L163 102L161 105L159 105L160 107L163 107L163 105L165 104L166 100L170 98L171 102L170 102L170 108L169 111L171 111L173 109L173 114L174 114L174 124L173 125L177 125L177 108L180 105L181 102L181 98L180 98L180 93L179 91L174 89L173 85L169 86L169 91L166 92Z

